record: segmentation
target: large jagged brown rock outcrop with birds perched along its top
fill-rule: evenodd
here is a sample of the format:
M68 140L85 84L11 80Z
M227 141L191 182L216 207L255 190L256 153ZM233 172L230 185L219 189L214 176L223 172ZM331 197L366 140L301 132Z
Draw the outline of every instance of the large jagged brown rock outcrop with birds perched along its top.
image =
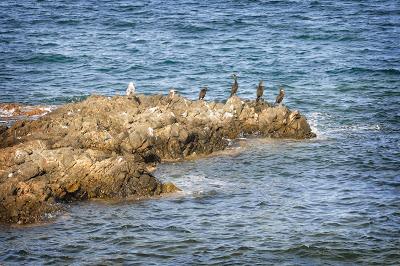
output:
M152 174L162 160L225 149L242 135L311 138L285 106L168 96L92 96L0 131L0 221L31 223L91 198L143 198L178 190Z

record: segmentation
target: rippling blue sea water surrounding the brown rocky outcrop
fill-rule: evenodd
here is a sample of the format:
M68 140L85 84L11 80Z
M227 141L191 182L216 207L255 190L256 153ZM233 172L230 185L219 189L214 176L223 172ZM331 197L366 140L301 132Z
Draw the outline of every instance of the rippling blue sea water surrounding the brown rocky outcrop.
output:
M0 227L0 264L399 265L400 2L1 1L0 102L89 94L225 100L305 114L317 138L248 139L162 164L182 193L72 204Z

